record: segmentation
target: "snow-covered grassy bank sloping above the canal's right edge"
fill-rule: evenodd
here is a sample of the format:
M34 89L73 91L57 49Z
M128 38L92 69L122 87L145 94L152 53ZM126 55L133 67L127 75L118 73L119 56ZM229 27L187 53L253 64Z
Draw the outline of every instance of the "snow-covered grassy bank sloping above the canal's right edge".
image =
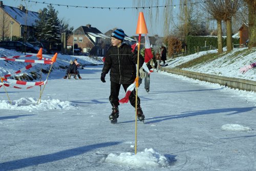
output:
M217 50L204 51L196 54L175 58L168 61L167 68L175 68L190 60L199 58L206 54L217 53ZM239 54L239 55L238 55ZM217 55L217 54L216 54ZM239 78L245 80L256 81L256 69L250 69L245 74L239 73L239 69L244 65L256 62L256 48L248 50L248 48L234 48L230 53L223 53L216 57L215 60L205 61L204 63L195 65L184 70L224 76L230 78Z

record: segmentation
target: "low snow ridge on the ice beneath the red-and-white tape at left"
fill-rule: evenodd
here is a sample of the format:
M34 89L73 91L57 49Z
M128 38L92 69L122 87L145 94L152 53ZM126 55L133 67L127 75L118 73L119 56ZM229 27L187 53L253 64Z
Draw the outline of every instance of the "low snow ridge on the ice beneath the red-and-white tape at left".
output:
M75 105L71 102L65 101L62 102L58 99L51 100L41 100L41 102L37 105L38 99L27 97L21 98L19 100L12 101L10 104L9 101L3 100L0 101L0 109L9 109L9 110L51 110L51 109L76 109Z

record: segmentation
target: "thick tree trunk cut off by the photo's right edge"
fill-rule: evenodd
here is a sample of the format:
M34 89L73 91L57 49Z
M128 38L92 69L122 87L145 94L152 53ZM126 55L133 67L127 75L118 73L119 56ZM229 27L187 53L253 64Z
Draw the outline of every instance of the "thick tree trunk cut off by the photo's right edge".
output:
M251 4L252 3L252 4ZM249 43L248 47L256 47L256 6L252 2L248 2L249 8Z

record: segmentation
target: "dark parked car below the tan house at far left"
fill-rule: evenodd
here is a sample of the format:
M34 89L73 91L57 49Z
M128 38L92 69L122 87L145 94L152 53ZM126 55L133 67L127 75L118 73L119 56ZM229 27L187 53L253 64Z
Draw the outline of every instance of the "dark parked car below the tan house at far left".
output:
M34 47L32 44L23 43L21 41L1 41L0 47L18 52L25 52L26 49L27 53L37 53L39 51L39 48Z

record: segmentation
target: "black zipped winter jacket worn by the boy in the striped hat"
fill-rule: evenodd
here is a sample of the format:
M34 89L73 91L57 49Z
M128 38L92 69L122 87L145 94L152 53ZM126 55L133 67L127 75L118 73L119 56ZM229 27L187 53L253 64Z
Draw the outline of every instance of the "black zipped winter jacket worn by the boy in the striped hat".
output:
M137 51L132 52L130 45L122 44L120 47L111 46L106 53L102 72L108 74L110 81L119 84L132 84L136 78ZM144 59L139 56L139 68Z

